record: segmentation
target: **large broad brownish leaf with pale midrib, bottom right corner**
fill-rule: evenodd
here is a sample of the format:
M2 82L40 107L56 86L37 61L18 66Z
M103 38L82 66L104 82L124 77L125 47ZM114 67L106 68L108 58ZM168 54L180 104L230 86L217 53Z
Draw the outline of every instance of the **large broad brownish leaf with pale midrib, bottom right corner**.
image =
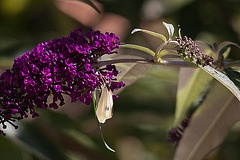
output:
M239 120L238 99L220 83L215 83L183 132L174 160L205 159Z

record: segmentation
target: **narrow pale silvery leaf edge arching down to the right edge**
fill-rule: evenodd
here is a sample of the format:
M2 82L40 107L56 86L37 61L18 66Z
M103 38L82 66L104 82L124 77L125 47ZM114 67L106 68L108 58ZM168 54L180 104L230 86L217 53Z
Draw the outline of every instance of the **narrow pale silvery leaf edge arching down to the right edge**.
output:
M240 101L240 90L237 88L237 86L222 72L217 71L216 69L210 67L210 66L198 66L208 74L210 74L212 77L214 77L216 80L218 80L220 83L222 83L225 87L227 87Z

